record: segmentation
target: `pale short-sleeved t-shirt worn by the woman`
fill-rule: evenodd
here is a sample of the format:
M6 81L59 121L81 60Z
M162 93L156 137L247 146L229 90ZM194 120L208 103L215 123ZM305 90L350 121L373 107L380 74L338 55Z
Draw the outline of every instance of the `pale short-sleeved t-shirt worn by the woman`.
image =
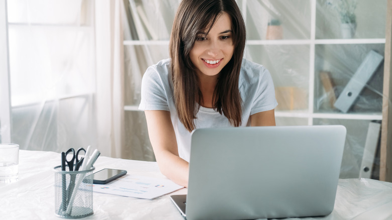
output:
M178 119L169 71L170 59L161 60L147 68L142 79L139 109L170 112L177 139L178 154L182 159L189 161L191 133ZM260 64L242 60L239 89L243 104L242 127L249 125L249 116L274 109L277 105L271 75ZM213 108L201 106L196 117L196 128L232 127L229 120Z

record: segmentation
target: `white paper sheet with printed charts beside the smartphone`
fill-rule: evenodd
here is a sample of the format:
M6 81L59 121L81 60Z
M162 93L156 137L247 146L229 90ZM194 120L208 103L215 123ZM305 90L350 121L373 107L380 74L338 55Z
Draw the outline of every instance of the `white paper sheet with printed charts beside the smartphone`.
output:
M169 179L126 174L108 184L93 184L92 191L153 199L181 188Z

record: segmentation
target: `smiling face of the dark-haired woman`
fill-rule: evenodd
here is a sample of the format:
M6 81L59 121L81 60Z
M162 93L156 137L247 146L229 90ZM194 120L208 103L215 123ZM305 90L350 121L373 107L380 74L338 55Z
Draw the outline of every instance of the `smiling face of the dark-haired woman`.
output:
M226 13L217 18L208 34L199 33L190 50L190 60L199 75L215 76L226 66L234 52L232 37L231 20Z

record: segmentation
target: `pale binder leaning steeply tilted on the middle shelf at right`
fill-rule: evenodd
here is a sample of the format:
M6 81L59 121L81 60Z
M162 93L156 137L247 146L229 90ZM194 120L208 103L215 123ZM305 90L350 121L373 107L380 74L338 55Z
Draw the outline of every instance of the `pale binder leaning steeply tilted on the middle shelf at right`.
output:
M383 56L371 50L339 95L334 106L340 111L347 113L383 59Z

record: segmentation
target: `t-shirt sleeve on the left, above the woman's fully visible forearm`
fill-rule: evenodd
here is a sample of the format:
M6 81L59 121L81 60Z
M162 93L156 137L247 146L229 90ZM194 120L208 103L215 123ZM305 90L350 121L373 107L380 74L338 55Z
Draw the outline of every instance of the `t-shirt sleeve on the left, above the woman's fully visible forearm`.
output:
M164 83L167 74L158 72L155 66L147 68L142 78L140 110L169 111L167 102L167 88Z

